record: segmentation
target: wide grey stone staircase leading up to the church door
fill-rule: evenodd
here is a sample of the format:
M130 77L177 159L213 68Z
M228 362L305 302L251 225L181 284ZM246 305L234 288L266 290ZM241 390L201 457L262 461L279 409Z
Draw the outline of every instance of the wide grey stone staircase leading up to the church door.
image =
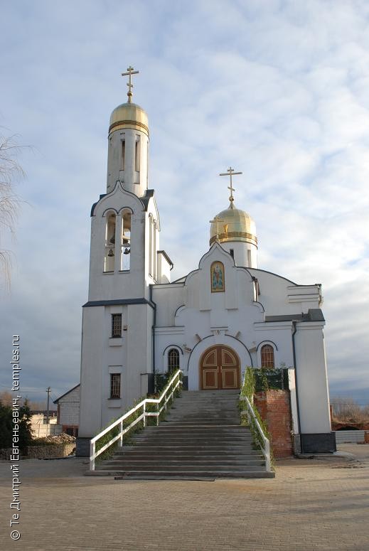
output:
M240 426L237 390L183 391L159 427L146 427L95 474L134 478L272 478Z

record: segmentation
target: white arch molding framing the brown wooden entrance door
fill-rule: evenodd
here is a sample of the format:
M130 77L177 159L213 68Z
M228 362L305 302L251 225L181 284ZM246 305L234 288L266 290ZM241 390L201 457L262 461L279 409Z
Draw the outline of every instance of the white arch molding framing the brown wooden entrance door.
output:
M203 338L202 341L196 343L189 355L188 390L199 390L198 369L200 365L200 358L208 348L216 345L228 346L238 355L241 365L241 380L247 365L251 365L252 367L251 354L247 346L245 346L242 341L239 341L237 338L224 333L220 335L208 335Z

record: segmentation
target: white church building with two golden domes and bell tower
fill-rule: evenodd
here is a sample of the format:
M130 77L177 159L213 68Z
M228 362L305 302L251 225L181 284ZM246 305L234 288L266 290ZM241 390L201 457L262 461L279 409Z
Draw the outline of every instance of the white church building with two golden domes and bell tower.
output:
M91 437L152 392L155 373L181 368L188 390L222 392L239 388L249 365L294 368L295 440L302 451L334 451L321 285L258 267L255 222L235 206L231 168L229 205L211 223L209 250L171 282L134 73L126 73L128 102L110 117L107 189L91 210L77 454L87 455Z

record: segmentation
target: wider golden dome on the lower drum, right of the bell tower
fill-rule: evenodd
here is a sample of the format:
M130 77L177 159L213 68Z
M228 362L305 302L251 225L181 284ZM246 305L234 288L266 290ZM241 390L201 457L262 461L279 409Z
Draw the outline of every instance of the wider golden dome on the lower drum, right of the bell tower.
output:
M214 220L217 219L218 223L214 221L210 226L210 245L213 245L218 232L220 243L241 241L257 246L255 222L245 210L235 208L231 202L226 210L214 217Z

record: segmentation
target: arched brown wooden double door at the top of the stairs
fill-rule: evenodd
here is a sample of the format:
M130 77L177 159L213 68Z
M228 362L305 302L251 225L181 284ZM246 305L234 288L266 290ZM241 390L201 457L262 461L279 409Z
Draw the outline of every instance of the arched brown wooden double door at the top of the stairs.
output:
M228 346L208 348L200 358L201 390L240 388L240 360Z

